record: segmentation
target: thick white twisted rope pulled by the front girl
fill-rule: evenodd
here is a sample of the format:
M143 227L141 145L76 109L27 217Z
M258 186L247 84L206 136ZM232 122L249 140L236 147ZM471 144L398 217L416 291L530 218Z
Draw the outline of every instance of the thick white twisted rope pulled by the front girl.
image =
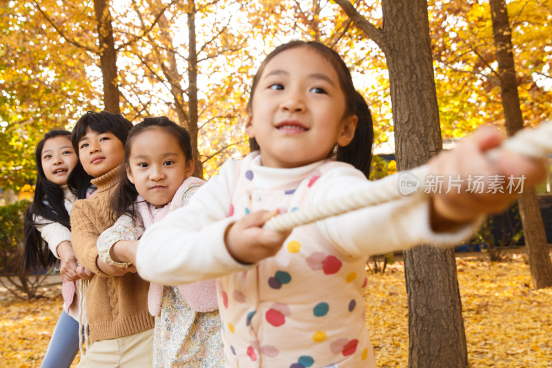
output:
M544 122L534 129L520 130L513 137L506 139L500 148L491 150L489 155L492 157L498 149L521 153L537 159L546 157L552 153L552 121ZM418 188L424 188L428 168L428 165L424 165L389 175L373 182L366 190L350 193L307 209L277 215L268 220L263 227L273 231L286 231L327 217L396 200L404 197L404 194L400 192L399 180L415 179L420 183ZM417 193L424 193L424 191L417 191Z

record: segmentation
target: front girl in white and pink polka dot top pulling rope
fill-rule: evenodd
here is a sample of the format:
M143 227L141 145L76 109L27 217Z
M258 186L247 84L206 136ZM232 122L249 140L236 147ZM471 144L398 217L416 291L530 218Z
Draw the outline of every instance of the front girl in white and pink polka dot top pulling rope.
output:
M137 249L146 280L217 278L225 367L375 367L365 327L368 255L468 238L483 209L511 195L404 197L293 231L262 228L277 213L369 189L368 106L336 52L316 42L276 48L253 79L246 132L253 153L229 160L184 209L151 226ZM517 155L493 164L495 130L433 160L433 173L524 173L544 167Z

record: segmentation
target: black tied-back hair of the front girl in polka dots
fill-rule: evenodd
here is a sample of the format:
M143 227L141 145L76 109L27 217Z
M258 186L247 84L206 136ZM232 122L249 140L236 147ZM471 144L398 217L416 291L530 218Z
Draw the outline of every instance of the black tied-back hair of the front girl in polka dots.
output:
M322 43L317 41L290 41L284 43L277 48L275 48L268 56L264 59L257 74L253 77L253 84L251 85L251 92L248 101L248 111L251 112L253 107L253 95L255 94L255 89L257 88L257 83L262 77L262 73L266 64L272 60L276 55L286 50L293 48L311 48L318 52L319 55L328 60L335 72L337 72L337 77L339 78L339 84L345 95L346 107L345 115L357 115L358 122L357 128L355 130L355 135L351 143L347 146L341 147L338 146L335 151L337 161L347 162L355 166L368 177L370 174L370 165L372 162L372 144L374 140L374 129L372 123L372 115L370 109L364 100L364 97L355 90L353 86L353 79L351 78L351 72L349 72L345 62L342 57L339 56L337 52L325 46ZM259 144L255 138L249 139L249 148L250 151L259 151ZM328 156L332 156L334 152L330 152Z

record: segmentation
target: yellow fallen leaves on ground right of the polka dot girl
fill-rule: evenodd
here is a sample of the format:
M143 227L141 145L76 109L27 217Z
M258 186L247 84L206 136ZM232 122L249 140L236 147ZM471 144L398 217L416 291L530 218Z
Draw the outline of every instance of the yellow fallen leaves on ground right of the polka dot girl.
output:
M550 367L552 289L531 289L524 258L457 259L470 367ZM404 267L368 275L366 326L378 367L408 365Z

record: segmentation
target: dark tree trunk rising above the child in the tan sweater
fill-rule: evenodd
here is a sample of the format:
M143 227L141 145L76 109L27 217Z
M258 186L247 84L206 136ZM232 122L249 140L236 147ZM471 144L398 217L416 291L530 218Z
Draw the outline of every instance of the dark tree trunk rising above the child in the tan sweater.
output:
M99 66L103 77L103 104L110 113L121 113L119 88L117 87L117 51L113 39L111 13L108 0L94 0L98 21Z

